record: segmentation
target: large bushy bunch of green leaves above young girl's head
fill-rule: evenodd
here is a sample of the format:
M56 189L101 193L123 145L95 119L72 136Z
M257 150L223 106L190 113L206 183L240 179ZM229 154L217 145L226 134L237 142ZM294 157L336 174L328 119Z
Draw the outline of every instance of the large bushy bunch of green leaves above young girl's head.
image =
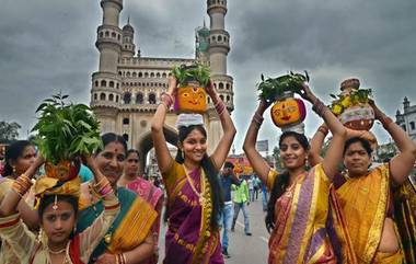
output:
M44 158L57 164L82 154L93 153L102 147L100 123L84 104L68 104L61 93L46 99L37 107L41 114L32 131Z

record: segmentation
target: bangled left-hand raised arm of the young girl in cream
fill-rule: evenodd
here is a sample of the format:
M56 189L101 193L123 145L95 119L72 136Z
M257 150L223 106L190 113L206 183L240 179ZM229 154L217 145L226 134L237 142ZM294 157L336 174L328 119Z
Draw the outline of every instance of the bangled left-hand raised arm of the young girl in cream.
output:
M4 196L0 205L0 216L10 216L18 213L18 205L22 197L32 186L31 179L35 175L36 170L44 163L43 157L39 154L35 162L20 175L13 183L12 188Z

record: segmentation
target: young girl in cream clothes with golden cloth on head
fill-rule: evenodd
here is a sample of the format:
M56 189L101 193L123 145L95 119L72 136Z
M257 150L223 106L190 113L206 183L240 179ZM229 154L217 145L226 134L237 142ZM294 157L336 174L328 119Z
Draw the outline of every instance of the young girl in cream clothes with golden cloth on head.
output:
M27 230L15 209L21 197L31 188L31 179L43 158L39 157L13 183L0 206L0 237L7 241L22 264L82 264L86 263L94 248L104 237L119 211L119 204L108 181L100 172L91 157L86 158L94 172L94 190L101 195L104 213L83 232L74 234L78 217L80 180L60 182L58 179L43 176L34 186L39 202L38 217L41 232L38 238Z

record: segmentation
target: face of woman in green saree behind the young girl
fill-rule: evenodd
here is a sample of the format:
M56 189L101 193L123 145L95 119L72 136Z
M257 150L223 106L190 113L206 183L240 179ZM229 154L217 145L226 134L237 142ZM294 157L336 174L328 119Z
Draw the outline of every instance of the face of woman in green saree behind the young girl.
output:
M123 174L126 160L126 149L120 142L109 142L95 156L101 172L114 186Z

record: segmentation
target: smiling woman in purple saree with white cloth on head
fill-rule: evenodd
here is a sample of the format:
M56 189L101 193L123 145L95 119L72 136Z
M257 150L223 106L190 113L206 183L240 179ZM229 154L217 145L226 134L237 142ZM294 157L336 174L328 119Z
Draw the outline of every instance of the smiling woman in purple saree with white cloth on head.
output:
M152 139L159 170L167 192L167 231L164 264L223 263L218 216L222 207L218 172L226 161L235 128L213 85L206 91L219 115L223 135L211 156L207 154L207 133L201 115L181 114L177 118L176 159L169 152L163 135L165 116L174 103L176 79L171 77L167 92L152 119Z

